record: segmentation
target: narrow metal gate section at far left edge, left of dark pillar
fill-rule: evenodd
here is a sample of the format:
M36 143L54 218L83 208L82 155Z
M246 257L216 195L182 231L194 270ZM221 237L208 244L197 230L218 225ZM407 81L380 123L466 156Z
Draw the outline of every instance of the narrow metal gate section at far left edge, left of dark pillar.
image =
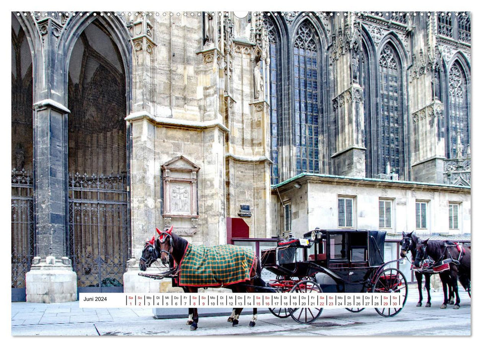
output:
M34 257L32 176L12 170L12 301L25 300L25 274Z

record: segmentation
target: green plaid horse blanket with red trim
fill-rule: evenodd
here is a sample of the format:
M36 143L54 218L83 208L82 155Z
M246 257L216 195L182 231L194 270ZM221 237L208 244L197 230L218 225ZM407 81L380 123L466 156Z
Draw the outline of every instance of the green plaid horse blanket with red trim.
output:
M249 281L254 258L254 252L246 247L188 243L180 264L179 286L219 287Z

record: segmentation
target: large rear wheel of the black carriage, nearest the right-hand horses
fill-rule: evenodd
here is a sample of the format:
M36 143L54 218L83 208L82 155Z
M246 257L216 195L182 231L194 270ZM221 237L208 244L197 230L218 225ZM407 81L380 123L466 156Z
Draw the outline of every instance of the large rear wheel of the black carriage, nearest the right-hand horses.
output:
M389 268L385 269L375 280L375 285L372 290L373 293L401 293L402 294L402 304L400 307L386 307L378 308L375 310L379 315L384 317L393 317L402 311L407 301L407 295L409 287L407 285L407 279L405 275L398 269Z

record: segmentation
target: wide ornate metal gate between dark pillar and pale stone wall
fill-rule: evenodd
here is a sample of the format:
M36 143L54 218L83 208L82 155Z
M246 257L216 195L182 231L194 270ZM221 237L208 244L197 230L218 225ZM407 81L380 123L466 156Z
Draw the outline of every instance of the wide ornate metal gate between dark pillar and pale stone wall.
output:
M69 175L68 249L77 288L122 291L131 254L126 175Z

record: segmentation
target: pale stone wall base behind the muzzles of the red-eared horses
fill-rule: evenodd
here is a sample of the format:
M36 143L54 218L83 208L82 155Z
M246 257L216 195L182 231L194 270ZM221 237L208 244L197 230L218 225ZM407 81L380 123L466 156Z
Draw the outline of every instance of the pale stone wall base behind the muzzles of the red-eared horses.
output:
M160 263L159 263L160 264ZM171 287L171 279L154 280L148 277L139 276L139 273L144 274L158 274L167 271L167 268L160 269L155 266L155 263L146 271L139 270L139 261L131 258L128 261L127 272L124 273L124 292L125 293L159 293L166 292Z

